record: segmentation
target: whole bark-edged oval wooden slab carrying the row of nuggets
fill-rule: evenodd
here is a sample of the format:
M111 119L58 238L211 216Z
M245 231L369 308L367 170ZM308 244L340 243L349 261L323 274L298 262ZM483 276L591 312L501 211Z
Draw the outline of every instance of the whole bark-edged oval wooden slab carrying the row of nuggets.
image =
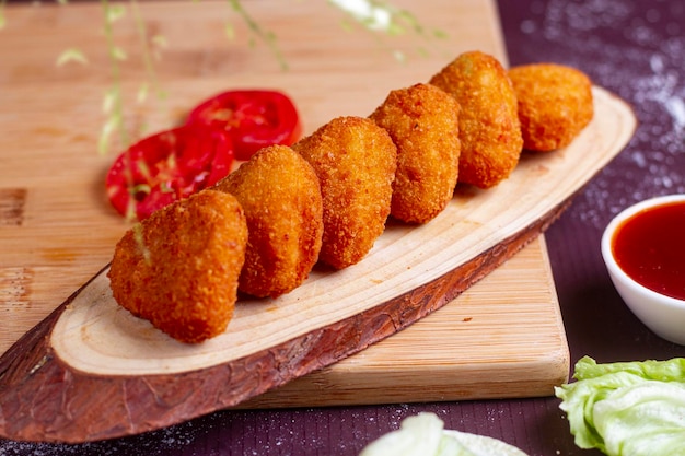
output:
M84 442L160 429L239 406L420 320L539 236L627 142L631 110L600 89L594 96L595 118L568 148L529 155L506 183L455 196L429 224L399 235L386 227L356 267L311 277L276 306L239 303L229 330L209 342L177 343L123 313L101 271L0 358L0 435ZM527 325L536 343L541 328ZM562 353L543 367L567 363Z

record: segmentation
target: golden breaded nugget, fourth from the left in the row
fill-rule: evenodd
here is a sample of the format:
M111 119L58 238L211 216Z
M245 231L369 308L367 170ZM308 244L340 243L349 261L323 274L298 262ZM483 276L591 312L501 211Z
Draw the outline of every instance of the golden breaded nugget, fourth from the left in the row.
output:
M397 147L391 214L426 223L450 202L458 175L456 100L430 84L392 91L373 114Z

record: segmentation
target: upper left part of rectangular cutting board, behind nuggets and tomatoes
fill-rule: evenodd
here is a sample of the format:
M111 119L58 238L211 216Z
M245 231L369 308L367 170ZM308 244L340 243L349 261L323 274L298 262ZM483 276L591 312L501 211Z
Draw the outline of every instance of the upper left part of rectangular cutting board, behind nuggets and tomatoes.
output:
M131 139L169 128L199 101L228 89L278 87L295 101L309 133L333 117L368 115L390 90L426 81L457 54L506 61L495 3L431 0L416 13L425 34L388 37L359 26L326 0L246 1L277 36L279 60L225 1L140 2L159 90L138 104L146 77L132 12L115 23L126 125ZM0 353L106 265L129 227L109 207L104 175L117 137L97 152L114 82L98 4L9 4L0 32ZM233 39L227 37L233 26ZM436 38L433 31L444 33ZM253 45L252 42L255 44ZM56 63L79 49L86 65ZM403 55L404 61L397 56Z

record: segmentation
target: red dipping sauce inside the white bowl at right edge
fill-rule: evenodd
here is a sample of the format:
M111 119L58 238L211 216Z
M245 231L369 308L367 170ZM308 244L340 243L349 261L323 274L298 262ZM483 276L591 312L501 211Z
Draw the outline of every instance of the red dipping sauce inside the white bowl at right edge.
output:
M645 209L624 221L612 239L616 262L635 281L685 300L685 201Z

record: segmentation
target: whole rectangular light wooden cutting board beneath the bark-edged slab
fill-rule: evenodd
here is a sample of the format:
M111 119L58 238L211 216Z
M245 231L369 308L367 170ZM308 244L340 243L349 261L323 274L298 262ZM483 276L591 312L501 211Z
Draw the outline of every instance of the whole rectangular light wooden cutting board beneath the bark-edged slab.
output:
M131 101L127 121L149 124L152 130L166 128L194 103L222 89L278 86L293 95L305 131L312 131L338 115L367 115L387 91L427 80L463 50L477 48L506 60L496 11L489 2L430 2L419 20L444 30L449 38L422 42L407 35L385 37L381 44L363 31L330 34L338 15L323 1L293 2L288 11L282 3L280 10L270 8L268 1L246 3L254 7L262 24L277 33L290 65L287 72L267 49L223 40L224 3L149 3L143 14L154 17L150 30L170 43L158 67L169 97L153 107ZM113 155L95 152L103 121L98 101L111 84L103 71L106 61L98 54L104 46L100 28L93 26L100 17L98 7L14 7L8 8L7 16L0 52L9 56L9 66L0 70L0 79L12 90L0 92L0 119L7 120L0 124L7 128L0 137L0 312L8 315L0 323L2 350L95 276L128 227L107 206L102 189ZM297 27L292 25L295 21ZM239 24L235 31L239 36L247 33ZM25 34L32 36L30 46ZM65 44L55 36L71 42ZM135 27L124 23L115 37L131 49L129 59L135 60ZM429 47L428 55L417 51L418 42ZM74 46L85 51L90 63L55 68L54 56ZM12 51L20 47L21 55ZM396 60L391 50L397 49L409 57L407 62ZM121 74L123 86L131 92L144 78L140 65L123 68ZM39 96L36 86L40 86ZM630 120L623 115L623 106L606 93L599 94L603 104L608 103L603 112L617 114L620 120L608 125L619 127L618 139L603 142L611 145L603 157L608 160L625 143L632 125L623 122ZM600 135L604 127L590 135ZM584 143L591 140L588 137ZM545 165L536 163L529 161L527 173L544 174ZM579 183L588 177L579 176ZM545 223L533 224L533 234L544 230L562 207L548 209L552 212L541 219ZM519 241L525 244L534 237L516 237L512 245L520 247ZM498 256L497 252L491 255ZM434 315L356 356L242 406L535 396L552 394L552 387L567 374L568 348L539 238ZM178 419L191 416L182 413ZM171 422L173 419L160 421ZM133 428L129 432L144 430Z

